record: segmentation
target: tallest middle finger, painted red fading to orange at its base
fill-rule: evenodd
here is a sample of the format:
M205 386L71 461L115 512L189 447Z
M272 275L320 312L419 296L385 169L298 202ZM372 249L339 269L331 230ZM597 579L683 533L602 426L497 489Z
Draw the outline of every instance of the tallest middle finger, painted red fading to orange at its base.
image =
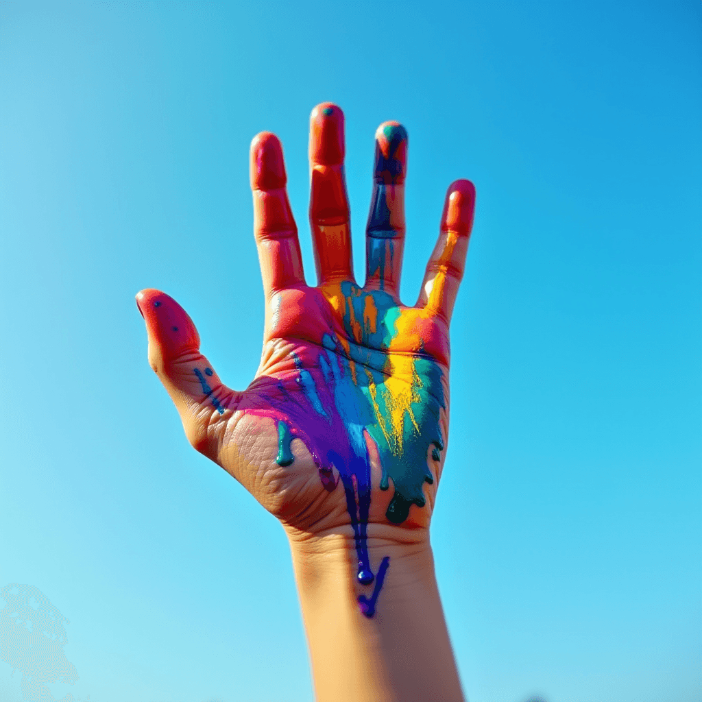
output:
M310 225L320 285L353 280L344 151L344 113L322 102L310 115Z

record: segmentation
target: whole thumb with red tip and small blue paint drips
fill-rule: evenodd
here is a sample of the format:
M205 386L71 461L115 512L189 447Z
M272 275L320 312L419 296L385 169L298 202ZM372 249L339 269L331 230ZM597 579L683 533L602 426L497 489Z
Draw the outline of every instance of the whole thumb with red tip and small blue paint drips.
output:
M237 402L237 393L220 383L200 353L200 337L187 312L159 290L136 296L146 322L149 363L176 405L190 443L209 458L217 447L211 426Z

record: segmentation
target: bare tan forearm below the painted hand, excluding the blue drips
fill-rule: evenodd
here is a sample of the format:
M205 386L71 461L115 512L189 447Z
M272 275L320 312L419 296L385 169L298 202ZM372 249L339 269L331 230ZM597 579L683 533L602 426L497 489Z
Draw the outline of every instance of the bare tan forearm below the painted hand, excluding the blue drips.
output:
M365 586L350 538L290 541L318 702L463 701L428 534L411 545L369 538L376 583ZM365 616L358 597L372 607L386 556Z

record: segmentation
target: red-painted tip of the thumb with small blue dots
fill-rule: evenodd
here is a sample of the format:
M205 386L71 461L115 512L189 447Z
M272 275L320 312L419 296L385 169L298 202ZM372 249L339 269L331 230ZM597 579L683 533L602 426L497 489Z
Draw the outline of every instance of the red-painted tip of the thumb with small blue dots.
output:
M158 343L164 355L199 349L200 337L192 319L171 296L147 288L137 293L136 305L150 339Z

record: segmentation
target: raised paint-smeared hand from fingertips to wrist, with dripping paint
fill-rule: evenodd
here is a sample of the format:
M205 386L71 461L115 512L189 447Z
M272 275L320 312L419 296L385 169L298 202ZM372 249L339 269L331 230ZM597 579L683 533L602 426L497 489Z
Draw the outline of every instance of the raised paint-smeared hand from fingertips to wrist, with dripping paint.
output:
M137 303L149 359L192 445L282 520L292 538L336 536L355 548L358 602L373 616L392 544L413 543L431 517L449 425L449 319L463 275L475 189L449 187L418 302L398 290L404 248L407 135L376 132L366 228L366 281L352 271L336 105L310 120L310 224L319 284L305 284L279 140L251 145L254 234L266 296L263 355L243 392L221 383L194 324L165 293ZM380 543L369 556L368 539ZM376 585L364 594L364 587Z

